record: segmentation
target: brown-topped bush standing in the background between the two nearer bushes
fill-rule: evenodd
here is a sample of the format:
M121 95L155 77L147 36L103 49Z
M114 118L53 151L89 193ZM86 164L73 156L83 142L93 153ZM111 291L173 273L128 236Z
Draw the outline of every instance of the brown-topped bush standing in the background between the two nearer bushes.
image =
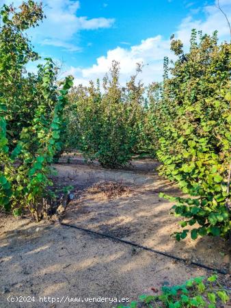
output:
M103 80L103 93L99 82L70 92L69 147L79 148L87 159L98 159L107 168L118 168L131 159L143 115L144 88L135 84L135 78L121 88L119 65L113 62L110 76Z

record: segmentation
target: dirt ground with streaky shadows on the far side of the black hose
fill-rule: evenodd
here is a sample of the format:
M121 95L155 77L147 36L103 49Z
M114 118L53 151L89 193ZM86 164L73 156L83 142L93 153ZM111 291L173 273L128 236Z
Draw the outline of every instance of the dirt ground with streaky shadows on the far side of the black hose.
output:
M64 222L109 233L212 268L228 270L230 247L226 241L211 237L193 241L189 236L182 242L176 242L170 236L181 230L178 224L180 219L169 214L174 203L160 198L159 192L172 196L182 194L176 186L159 177L158 166L159 163L154 159L137 159L126 171L104 170L98 166L94 169L92 166L75 164L58 166L59 177L66 174L67 170L70 177L77 174L77 178L73 177L75 183L81 179L89 185L99 181L115 181L128 185L132 190L126 196L109 200L100 192L81 192L81 197L78 195L70 203Z

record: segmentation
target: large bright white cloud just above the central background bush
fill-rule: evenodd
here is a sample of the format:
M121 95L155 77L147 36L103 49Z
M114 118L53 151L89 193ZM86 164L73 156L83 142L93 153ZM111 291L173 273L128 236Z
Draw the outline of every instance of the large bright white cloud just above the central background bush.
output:
M137 63L144 64L143 73L140 75L145 84L153 80L161 80L163 75L163 57L172 55L169 50L169 40L164 40L161 36L147 38L140 44L128 49L117 47L107 51L107 55L98 57L96 64L88 68L70 67L64 75L74 75L74 84L87 85L90 79L102 79L109 71L111 62L120 62L120 81L125 84L131 75L135 73Z

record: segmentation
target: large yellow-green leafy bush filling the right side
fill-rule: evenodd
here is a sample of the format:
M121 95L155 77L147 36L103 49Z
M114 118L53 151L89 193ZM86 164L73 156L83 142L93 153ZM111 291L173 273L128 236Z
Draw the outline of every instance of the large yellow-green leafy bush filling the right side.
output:
M172 38L178 60L168 68L165 59L163 98L155 106L157 155L161 174L178 183L189 198L161 196L175 201L173 211L195 225L191 238L219 235L228 238L230 209L230 68L231 44L218 44L213 36L192 31L191 47ZM169 75L169 77L167 77ZM189 229L176 233L187 236Z

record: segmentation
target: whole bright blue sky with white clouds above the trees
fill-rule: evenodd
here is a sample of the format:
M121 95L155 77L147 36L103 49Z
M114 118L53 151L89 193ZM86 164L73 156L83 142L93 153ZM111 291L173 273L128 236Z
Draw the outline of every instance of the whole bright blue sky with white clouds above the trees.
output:
M171 57L169 36L176 34L187 48L193 27L206 33L217 29L221 40L229 39L215 0L44 0L43 4L47 18L29 36L40 55L62 63L63 75L74 75L75 84L103 77L112 60L120 62L122 83L134 73L137 62L144 63L140 78L145 84L159 81L163 57ZM220 4L230 18L231 0Z

